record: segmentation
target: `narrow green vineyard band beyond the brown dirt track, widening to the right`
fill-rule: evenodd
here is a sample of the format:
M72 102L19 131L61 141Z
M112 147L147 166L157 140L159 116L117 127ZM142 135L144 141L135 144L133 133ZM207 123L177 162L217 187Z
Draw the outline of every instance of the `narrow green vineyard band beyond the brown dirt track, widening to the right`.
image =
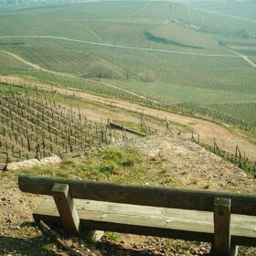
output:
M168 103L166 101L161 101L161 99L156 97L149 97L147 94L144 94L144 97L140 97L133 93L127 91L121 91L112 87L108 87L98 81L86 81L78 78L71 79L66 77L61 77L53 74L46 74L44 72L38 72L40 80L54 79L56 82L61 84L62 87L69 88L69 84L72 82L75 83L75 88L69 88L73 90L73 93L76 94L76 91L90 91L99 95L106 95L108 97L114 97L117 99L122 99L125 101L131 101L134 103L139 103L141 105L149 106L158 110L164 110L167 112L178 112L186 115L201 115L210 119L217 120L221 123L227 123L229 125L235 126L243 131L250 131L255 133L256 131L256 102L253 101L255 98L254 95L251 95L251 101L238 101L238 102L213 102L213 103L204 103L204 102L173 102ZM106 82L110 82L106 80ZM2 83L13 85L11 80L3 80ZM33 83L33 82L32 82ZM29 82L27 83L27 85ZM95 86L97 84L97 86ZM73 84L74 85L74 84ZM137 84L138 87L141 84ZM23 87L25 84L23 84ZM178 93L176 91L176 93ZM182 93L182 91L180 91ZM185 92L183 92L185 93ZM189 91L193 95L192 91ZM222 95L225 97L225 95ZM220 99L219 99L220 100Z

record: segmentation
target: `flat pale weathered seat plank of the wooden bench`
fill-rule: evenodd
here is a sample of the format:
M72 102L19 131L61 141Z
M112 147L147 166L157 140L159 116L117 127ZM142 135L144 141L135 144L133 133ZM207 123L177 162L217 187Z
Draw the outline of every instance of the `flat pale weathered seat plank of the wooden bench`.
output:
M213 213L175 208L154 208L75 199L83 229L98 229L182 240L213 242ZM48 197L34 213L42 219L61 225L53 199ZM232 215L231 244L256 245L256 218Z

